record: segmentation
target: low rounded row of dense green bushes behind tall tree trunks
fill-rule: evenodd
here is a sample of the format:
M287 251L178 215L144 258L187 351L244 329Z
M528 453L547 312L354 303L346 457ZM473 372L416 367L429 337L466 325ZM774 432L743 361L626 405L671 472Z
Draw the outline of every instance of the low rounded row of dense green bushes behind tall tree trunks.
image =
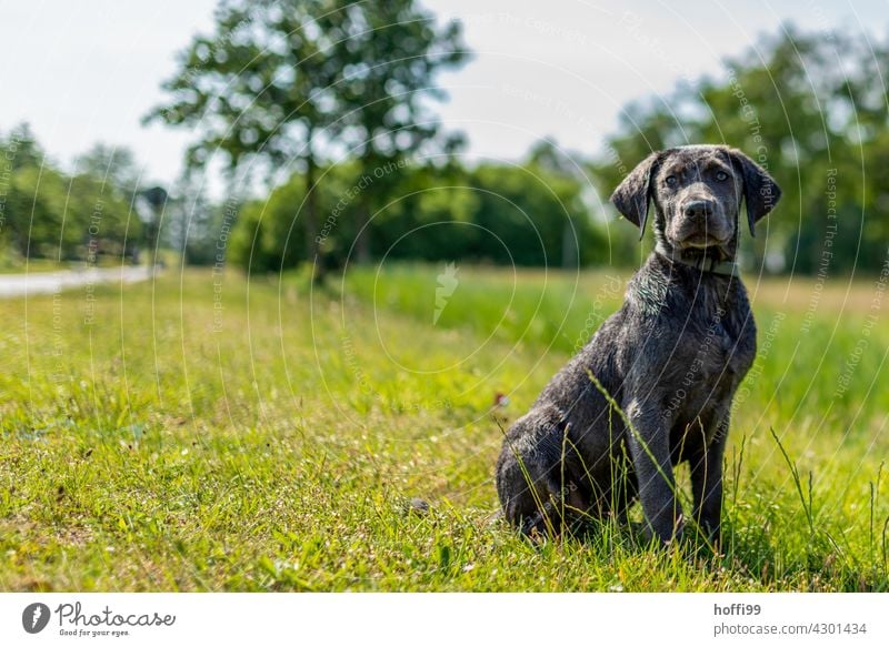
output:
M382 178L389 201L364 219L362 193L374 191ZM533 159L515 165L467 168L451 161L390 169L352 161L320 169L314 191L326 219L313 233L328 269L362 262L359 240L372 259L557 267L608 261L603 223L591 218L583 184ZM279 272L304 260L307 220L299 214L307 202L300 174L268 198L247 202L232 236L231 260L260 272Z

